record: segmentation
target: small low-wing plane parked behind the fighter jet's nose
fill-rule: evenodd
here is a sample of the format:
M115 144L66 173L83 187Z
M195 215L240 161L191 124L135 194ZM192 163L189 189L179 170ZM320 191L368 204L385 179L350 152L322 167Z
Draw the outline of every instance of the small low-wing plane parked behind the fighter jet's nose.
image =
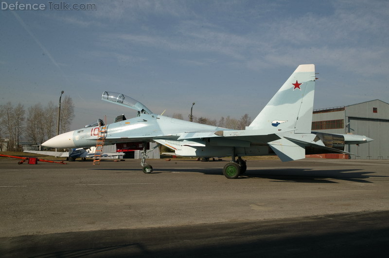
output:
M42 154L47 156L54 157L66 157L67 161L75 161L77 158L86 160L86 158L93 158L96 147L85 148L70 148L69 151L44 151L44 150L25 150L27 153ZM124 155L123 152L114 152L114 153L102 153L102 157L108 156L120 156Z

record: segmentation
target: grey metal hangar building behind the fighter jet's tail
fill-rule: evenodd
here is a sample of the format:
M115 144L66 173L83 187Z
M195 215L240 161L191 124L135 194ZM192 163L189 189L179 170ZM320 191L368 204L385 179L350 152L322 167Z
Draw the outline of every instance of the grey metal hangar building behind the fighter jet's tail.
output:
M346 145L351 159L389 159L389 104L379 99L314 110L312 131L365 135L374 141Z

